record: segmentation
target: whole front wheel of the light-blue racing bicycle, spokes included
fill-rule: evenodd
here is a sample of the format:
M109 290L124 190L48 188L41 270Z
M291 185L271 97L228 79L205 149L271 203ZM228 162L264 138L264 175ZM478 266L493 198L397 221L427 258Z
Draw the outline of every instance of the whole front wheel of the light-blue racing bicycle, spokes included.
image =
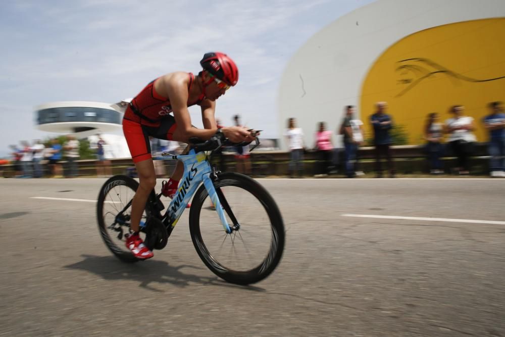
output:
M228 223L232 225L232 219L236 219L239 229L231 234L224 231L202 185L189 212L193 245L201 260L222 279L235 284L259 282L277 267L284 250L279 208L254 179L237 173L221 173L218 177L214 186L221 203L230 206L228 210L224 207Z

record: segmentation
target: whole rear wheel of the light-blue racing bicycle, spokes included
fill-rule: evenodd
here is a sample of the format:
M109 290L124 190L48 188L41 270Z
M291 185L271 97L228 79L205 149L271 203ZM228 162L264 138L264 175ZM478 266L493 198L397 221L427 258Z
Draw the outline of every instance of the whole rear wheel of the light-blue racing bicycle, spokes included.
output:
M125 175L116 175L107 180L98 195L96 216L100 235L109 250L124 262L137 262L125 246L125 234L129 233L131 220L131 200L138 188L138 182ZM141 223L150 214L146 207ZM143 234L140 234L143 236ZM144 237L142 237L144 239Z

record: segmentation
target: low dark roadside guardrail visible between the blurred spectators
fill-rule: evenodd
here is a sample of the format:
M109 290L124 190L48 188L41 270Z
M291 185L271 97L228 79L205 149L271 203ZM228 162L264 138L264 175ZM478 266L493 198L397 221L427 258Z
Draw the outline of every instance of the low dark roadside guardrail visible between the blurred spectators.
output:
M489 174L489 159L491 158L487 152L487 143L476 143L475 153L470 158L469 165L473 175ZM374 147L362 147L358 150L360 158L360 170L364 172L365 177L374 177L375 167L375 149ZM428 174L430 171L429 162L426 159L426 149L424 145L408 145L408 146L392 146L391 153L395 163L396 172L398 174ZM320 154L317 151L302 151L303 160L300 161L299 177L312 177L319 174L323 163L320 160ZM236 170L236 155L233 152L223 152L222 155L222 171ZM216 165L219 157L215 156L213 161ZM442 170L445 174L456 174L453 171L457 158L450 153L450 149L440 158ZM251 175L257 177L263 176L290 176L290 151L252 151L250 152ZM74 161L77 167L77 176L80 177L96 177L97 159L76 160ZM155 157L155 169L158 177L166 177L175 167L175 161L161 159ZM70 177L67 161L60 161L63 166L63 176ZM324 162L324 165L327 165ZM343 148L333 149L330 160L329 177L345 177L345 150ZM135 167L131 158L118 158L110 160L111 175L113 174L128 174L135 176ZM41 162L42 177L54 177L49 161ZM0 165L0 176L5 178L16 177L15 164L7 163ZM19 176L18 176L19 177Z

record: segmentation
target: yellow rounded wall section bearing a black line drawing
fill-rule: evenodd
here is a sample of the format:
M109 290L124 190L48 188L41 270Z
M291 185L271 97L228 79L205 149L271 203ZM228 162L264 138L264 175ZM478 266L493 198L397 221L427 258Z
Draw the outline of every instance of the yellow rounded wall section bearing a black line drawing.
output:
M391 45L363 82L361 118L386 101L410 143L421 143L426 115L461 104L476 120L479 141L487 140L481 119L492 101L505 101L505 18L447 24L408 35ZM365 122L366 131L370 124Z

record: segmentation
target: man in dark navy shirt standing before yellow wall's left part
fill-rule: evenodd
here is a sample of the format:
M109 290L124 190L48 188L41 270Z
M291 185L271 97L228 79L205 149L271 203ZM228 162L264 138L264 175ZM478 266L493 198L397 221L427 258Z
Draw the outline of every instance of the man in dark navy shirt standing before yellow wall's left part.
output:
M394 165L391 158L392 128L391 116L386 114L387 103L377 102L377 111L370 117L374 130L375 172L377 178L382 178L382 157L386 157L389 177L394 178Z

